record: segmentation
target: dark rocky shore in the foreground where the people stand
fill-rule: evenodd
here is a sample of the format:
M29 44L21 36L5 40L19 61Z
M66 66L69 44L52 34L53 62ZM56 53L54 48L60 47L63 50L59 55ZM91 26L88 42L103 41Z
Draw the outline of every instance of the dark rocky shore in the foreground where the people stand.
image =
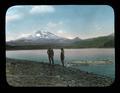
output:
M14 87L106 87L114 80L71 67L6 59L6 80Z

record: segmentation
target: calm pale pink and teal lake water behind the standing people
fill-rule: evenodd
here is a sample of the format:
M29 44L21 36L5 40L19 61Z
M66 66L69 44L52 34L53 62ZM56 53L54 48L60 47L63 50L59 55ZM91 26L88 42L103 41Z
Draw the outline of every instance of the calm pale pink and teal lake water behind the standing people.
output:
M60 62L60 49L54 49L55 64ZM65 52L65 66L70 62L76 61L112 61L112 64L96 64L96 65L79 65L74 66L83 71L92 72L99 75L105 75L115 78L115 50L108 49L64 49ZM14 50L6 51L6 57L14 59L24 59L36 62L47 62L47 50ZM62 65L62 64L61 64Z

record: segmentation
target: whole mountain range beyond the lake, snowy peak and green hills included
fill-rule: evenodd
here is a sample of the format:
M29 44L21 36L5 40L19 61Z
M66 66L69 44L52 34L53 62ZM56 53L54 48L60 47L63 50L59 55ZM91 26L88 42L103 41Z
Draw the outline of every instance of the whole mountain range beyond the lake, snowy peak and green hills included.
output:
M73 39L63 38L47 31L36 31L34 34L6 42L6 49L42 49L42 48L113 48L114 34L96 38Z

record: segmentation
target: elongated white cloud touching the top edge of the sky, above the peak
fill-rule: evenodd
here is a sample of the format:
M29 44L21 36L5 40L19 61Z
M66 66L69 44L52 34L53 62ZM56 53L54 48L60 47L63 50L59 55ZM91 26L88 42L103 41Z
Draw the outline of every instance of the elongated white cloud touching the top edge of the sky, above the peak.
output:
M55 9L53 6L41 5L41 6L33 6L32 9L30 10L30 13L31 14L34 14L34 13L52 13L54 11L55 11Z

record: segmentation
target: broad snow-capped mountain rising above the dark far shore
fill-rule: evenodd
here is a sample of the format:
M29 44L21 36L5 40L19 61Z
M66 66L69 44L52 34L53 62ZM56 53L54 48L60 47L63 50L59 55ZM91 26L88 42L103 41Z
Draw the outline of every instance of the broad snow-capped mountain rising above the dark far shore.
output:
M59 37L51 32L37 31L34 34L7 42L10 45L42 45L42 44L60 44L69 43L69 39Z

